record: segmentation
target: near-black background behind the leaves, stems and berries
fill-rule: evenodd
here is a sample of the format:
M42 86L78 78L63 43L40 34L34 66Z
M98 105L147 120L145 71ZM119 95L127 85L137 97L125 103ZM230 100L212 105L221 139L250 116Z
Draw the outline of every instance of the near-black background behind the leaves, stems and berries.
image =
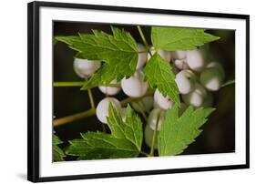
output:
M117 26L112 25L111 26ZM120 26L142 43L136 26ZM110 25L55 22L54 36L71 36L77 33L92 33L91 29L99 29L111 34ZM142 26L148 43L150 43L150 26ZM209 51L207 59L218 61L225 70L225 81L235 78L235 31L207 30L208 33L220 36L220 40L204 46ZM54 46L54 81L81 81L73 70L73 61L76 51L71 50L66 44L57 43ZM105 97L97 87L93 88L96 104ZM62 118L68 115L82 112L90 108L87 91L80 91L79 87L54 87L54 116ZM222 87L220 91L214 92L213 107L216 111L210 116L210 120L203 126L203 132L194 143L189 145L182 154L206 154L224 153L235 151L235 86ZM119 100L126 98L123 92L118 93ZM143 118L141 118L143 119ZM145 125L145 124L144 124ZM105 126L107 128L107 126ZM88 130L102 130L102 124L96 117L85 118L54 128L56 135L65 143L62 148L67 147L67 140L80 138L80 132ZM143 149L149 148L143 144ZM68 159L73 159L67 157Z

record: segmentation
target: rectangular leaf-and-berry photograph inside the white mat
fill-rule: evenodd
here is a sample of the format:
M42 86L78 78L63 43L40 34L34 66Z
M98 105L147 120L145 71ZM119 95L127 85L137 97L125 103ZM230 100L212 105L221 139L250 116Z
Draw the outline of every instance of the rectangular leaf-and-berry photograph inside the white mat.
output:
M53 21L53 161L235 153L235 36Z

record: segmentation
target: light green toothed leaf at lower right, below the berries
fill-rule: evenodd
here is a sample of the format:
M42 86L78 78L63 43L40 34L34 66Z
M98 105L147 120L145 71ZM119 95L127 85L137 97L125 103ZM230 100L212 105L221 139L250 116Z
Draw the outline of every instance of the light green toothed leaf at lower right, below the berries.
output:
M188 107L179 117L179 107L168 109L159 131L159 156L179 155L195 141L200 127L208 120L207 117L215 109Z

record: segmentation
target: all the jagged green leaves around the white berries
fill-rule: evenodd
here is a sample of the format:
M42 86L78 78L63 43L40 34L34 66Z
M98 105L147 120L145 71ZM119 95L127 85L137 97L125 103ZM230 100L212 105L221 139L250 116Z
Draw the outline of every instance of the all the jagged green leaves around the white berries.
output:
M55 43L62 42L76 50L76 57L102 62L96 73L86 78L82 90L109 85L112 80L120 81L124 77L131 77L136 71L139 55L136 40L123 29L111 26L111 30L112 35L92 30L92 34L55 37ZM159 49L191 50L219 38L206 33L204 29L152 26L151 43L156 52L144 67L145 80L149 87L158 88L164 97L169 97L176 104L167 110L162 121L158 138L159 156L174 156L182 153L200 135L201 126L214 111L211 107L197 109L188 107L179 117L179 89L175 82L174 68L171 63L159 56ZM144 39L143 41L145 46L148 46L147 41ZM232 83L234 81L228 81L223 87ZM69 141L66 154L77 159L138 157L143 152L142 127L141 119L129 105L124 118L110 103L108 108L110 134L99 131L81 133L82 138ZM58 147L60 144L62 141L54 135L55 161L64 160L66 157L64 151Z

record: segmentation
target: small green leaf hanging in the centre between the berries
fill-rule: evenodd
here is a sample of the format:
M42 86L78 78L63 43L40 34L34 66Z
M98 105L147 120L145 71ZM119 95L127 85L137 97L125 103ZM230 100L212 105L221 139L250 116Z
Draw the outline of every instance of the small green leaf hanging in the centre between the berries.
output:
M149 59L144 72L150 87L158 87L163 96L168 96L178 106L180 105L179 89L175 82L175 75L167 61L156 53Z

